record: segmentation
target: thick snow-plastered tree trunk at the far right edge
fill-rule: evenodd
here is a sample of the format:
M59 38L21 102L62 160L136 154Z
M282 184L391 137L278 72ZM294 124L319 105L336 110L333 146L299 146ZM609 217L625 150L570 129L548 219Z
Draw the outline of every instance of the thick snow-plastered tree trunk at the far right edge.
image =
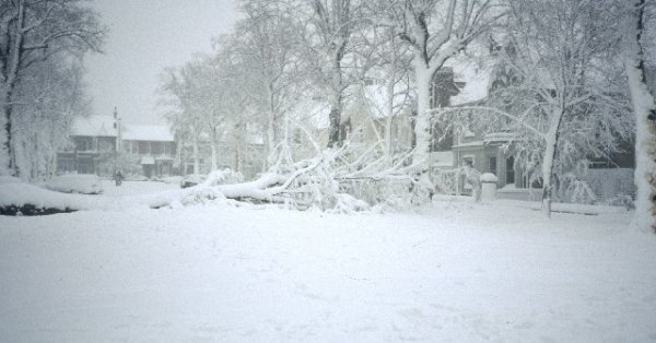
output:
M641 36L645 0L633 0L634 11L626 25L624 59L631 102L635 115L635 224L656 232L656 105L645 82Z

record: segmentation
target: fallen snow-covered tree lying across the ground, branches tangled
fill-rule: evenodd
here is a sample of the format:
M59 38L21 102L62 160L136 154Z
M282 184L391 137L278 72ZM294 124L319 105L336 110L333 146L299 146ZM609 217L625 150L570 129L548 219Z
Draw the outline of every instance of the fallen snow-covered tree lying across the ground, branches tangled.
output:
M303 129L303 128L301 128ZM209 202L278 204L288 209L350 213L385 211L425 203L432 189L421 184L411 164L412 151L389 158L384 141L347 140L340 147L321 149L305 131L315 156L293 162L286 139L276 149L277 161L255 180L244 181L231 169L212 172L197 186L144 196L97 197L59 193L32 185L0 185L0 208L33 209L31 213L134 208L179 208ZM285 155L288 154L288 155ZM10 211L5 214L15 214Z

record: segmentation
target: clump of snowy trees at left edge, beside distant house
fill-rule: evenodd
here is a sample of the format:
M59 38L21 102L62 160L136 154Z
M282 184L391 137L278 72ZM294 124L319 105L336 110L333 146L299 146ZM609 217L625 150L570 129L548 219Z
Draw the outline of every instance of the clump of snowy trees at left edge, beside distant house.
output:
M105 35L81 0L0 2L0 175L55 173L72 118L89 111L83 56Z

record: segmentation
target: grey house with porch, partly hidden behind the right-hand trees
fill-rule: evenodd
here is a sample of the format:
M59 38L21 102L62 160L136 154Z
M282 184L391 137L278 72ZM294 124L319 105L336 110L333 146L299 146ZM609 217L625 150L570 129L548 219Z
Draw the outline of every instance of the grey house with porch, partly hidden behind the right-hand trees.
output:
M452 64L454 69L454 83L459 92L449 99L448 106L477 106L484 104L492 84L492 68L480 68L467 61ZM508 131L488 131L473 133L461 130L453 137L450 151L454 154L453 166L469 165L480 173L492 173L499 178L499 194L513 199L538 199L541 192L531 192L531 188L541 188L540 178L531 179L530 170L525 170L508 143L515 134ZM445 142L447 144L448 142ZM586 175L579 175L596 194L597 199L609 199L618 194L632 194L633 186L630 181L634 168L632 142L622 142L621 152L607 153L604 157L587 154L589 168ZM448 146L441 146L446 153ZM569 172L567 172L569 173ZM628 181L629 180L629 181ZM612 185L610 187L609 185ZM563 193L564 196L564 193Z

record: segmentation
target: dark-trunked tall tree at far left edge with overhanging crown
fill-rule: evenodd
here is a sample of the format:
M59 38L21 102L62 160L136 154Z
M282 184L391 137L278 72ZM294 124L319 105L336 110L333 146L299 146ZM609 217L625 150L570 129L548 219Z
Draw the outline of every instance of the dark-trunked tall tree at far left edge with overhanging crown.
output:
M20 173L12 126L23 78L49 59L99 51L103 37L97 14L80 0L0 2L0 174Z

